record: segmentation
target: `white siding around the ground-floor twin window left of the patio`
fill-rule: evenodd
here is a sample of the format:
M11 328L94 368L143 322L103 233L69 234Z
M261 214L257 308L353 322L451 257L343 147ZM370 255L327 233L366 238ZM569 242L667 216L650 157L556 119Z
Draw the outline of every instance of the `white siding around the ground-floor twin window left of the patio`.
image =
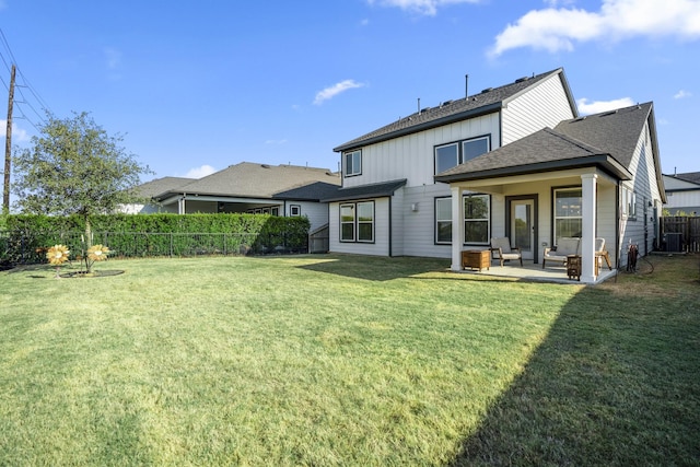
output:
M374 242L340 242L340 205L330 202L328 231L331 253L353 255L389 256L389 199L377 198L374 201Z

